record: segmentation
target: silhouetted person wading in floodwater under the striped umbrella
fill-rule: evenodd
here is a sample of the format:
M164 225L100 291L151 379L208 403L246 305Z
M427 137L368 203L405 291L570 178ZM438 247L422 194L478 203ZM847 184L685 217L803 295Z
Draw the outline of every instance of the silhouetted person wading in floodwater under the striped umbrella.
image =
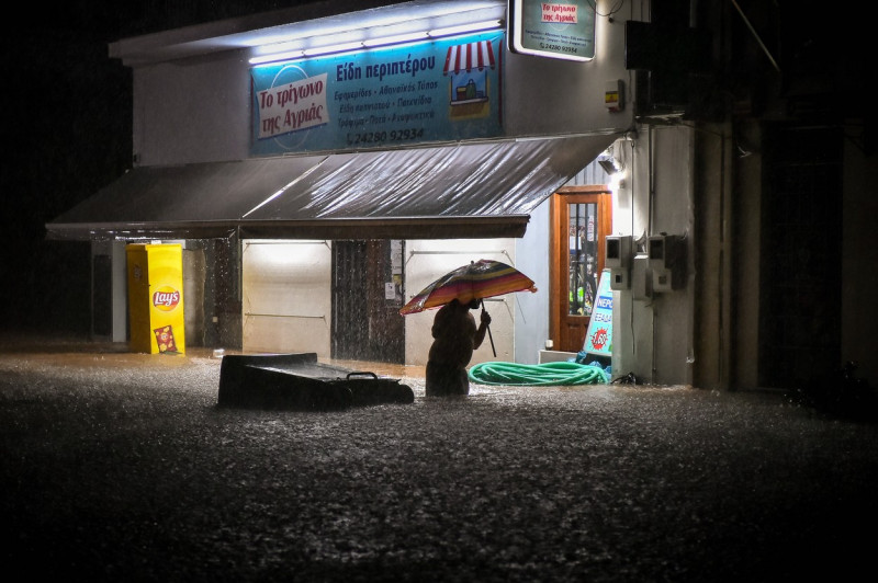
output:
M432 321L434 343L427 358L427 396L469 395L470 378L466 365L473 351L482 345L491 316L483 309L481 322L470 310L479 308L479 300L461 304L454 299L436 313Z

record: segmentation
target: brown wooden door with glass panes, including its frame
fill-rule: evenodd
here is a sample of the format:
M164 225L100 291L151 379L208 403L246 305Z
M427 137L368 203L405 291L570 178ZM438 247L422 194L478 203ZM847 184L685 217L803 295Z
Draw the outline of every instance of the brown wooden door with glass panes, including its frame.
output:
M565 186L551 199L549 334L554 350L579 352L604 270L604 239L612 226L607 186Z

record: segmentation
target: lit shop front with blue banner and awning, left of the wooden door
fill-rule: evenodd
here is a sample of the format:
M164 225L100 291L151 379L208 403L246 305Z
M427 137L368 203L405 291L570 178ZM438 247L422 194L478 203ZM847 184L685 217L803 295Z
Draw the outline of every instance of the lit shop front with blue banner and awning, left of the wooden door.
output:
M526 273L527 263L544 263L548 240L520 251L531 214L623 135L632 115L605 106L606 83L594 81L626 76L621 26L587 15L597 56L547 59L509 52L505 2L412 4L306 21L281 11L246 33L225 31L247 22L221 22L112 45L134 71L135 165L49 230L90 238L113 274L128 242L182 242L189 339L423 363L431 313L398 317L404 290L473 259ZM251 62L279 34L317 46L336 41L325 31L339 26L374 38L473 22L487 24L427 43ZM302 81L306 68L312 81ZM458 99L468 96L461 87L470 99ZM269 127L278 112L294 111L280 102L299 96L309 101L295 130L284 132L289 118ZM308 107L320 113L306 119ZM367 279L380 285L334 295ZM121 285L112 297L103 329L121 341ZM496 358L533 362L549 338L545 316L522 317L533 308L511 296L488 307ZM384 334L358 333L357 321Z

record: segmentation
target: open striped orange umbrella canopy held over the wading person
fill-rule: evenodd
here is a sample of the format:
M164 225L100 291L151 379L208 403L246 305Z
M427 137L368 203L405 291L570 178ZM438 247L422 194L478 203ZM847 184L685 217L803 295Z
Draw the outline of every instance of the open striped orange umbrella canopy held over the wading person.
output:
M469 304L473 299L525 290L537 292L533 279L511 265L483 259L444 274L413 297L399 309L399 313L407 316L438 308L452 299Z

